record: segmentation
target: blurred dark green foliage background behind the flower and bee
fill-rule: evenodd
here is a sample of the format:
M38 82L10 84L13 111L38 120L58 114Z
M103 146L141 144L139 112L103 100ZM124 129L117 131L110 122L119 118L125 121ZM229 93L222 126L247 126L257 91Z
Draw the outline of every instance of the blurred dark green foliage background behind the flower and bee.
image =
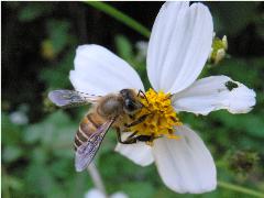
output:
M135 11L135 16L150 6L143 3L143 10ZM158 10L160 6L153 4L153 9ZM230 57L215 67L206 67L202 76L223 74L242 81L256 91L257 103L248 114L218 111L208 117L189 113L179 117L198 131L209 146L219 179L261 190L264 189L263 3L210 2L208 6L216 32L228 35ZM123 3L123 7L130 8L130 4ZM76 18L77 13L87 14L80 19ZM117 24L78 2L2 2L3 197L82 197L94 186L87 173L78 174L74 168L73 139L88 107L58 110L47 101L46 95L52 89L72 88L68 73L73 69L76 46L84 41L97 41L79 36L80 32L109 31L98 23L94 29L84 29L84 24L97 18ZM147 43L135 37L132 31L121 35L125 31L119 26L119 32L111 34L111 42L106 37L101 44L128 61L148 88ZM26 110L21 108L24 105L29 107ZM26 114L29 123L11 119L14 112ZM96 157L109 194L122 190L132 198L183 197L163 185L154 165L142 168L114 153L116 142L116 134L110 131ZM250 170L248 165L240 166L241 161L250 164ZM243 178L241 172L246 172ZM238 196L249 197L223 188L204 195L184 195Z

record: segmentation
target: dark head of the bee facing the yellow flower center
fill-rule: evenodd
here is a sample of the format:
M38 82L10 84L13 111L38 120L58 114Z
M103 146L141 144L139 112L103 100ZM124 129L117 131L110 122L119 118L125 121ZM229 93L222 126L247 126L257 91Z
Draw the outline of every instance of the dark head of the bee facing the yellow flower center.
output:
M143 107L133 89L122 89L120 95L123 98L124 112L133 114Z

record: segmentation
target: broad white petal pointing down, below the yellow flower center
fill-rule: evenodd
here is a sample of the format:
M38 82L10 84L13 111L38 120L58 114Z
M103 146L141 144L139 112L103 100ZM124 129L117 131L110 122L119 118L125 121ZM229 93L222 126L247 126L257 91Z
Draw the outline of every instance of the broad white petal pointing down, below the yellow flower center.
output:
M217 173L210 152L189 128L178 127L182 138L157 139L153 154L164 184L174 191L201 194L217 186Z

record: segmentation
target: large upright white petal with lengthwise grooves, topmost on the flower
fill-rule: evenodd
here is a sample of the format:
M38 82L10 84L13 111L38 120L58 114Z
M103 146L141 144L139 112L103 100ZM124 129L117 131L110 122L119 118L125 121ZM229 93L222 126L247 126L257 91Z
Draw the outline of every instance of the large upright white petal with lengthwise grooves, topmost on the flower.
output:
M147 75L154 89L178 92L200 74L212 44L212 18L201 3L166 2L153 25Z

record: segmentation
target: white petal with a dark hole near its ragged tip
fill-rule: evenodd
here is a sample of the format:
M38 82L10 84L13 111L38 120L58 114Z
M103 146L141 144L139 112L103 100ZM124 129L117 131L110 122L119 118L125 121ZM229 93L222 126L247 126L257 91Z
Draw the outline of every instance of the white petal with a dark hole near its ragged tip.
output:
M228 81L238 85L229 90ZM211 76L194 82L189 88L173 97L176 111L208 114L227 109L231 113L246 113L255 105L255 92L243 84L227 76Z

